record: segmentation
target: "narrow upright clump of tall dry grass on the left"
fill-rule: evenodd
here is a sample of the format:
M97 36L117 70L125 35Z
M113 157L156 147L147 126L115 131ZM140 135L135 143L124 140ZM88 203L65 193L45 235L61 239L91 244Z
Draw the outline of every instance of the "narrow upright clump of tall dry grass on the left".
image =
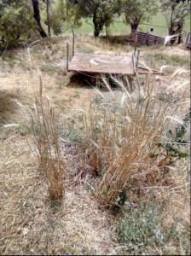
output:
M30 111L30 118L27 119L28 127L32 131L32 139L28 140L32 148L35 148L38 157L38 166L47 180L49 198L54 201L61 201L65 194L64 178L65 163L61 159L61 149L58 137L58 114L51 106L49 99L43 96L43 78L35 63L32 62L30 51L27 51L28 63L30 64L31 78L33 71L38 73L39 91L35 91L33 84L34 111Z

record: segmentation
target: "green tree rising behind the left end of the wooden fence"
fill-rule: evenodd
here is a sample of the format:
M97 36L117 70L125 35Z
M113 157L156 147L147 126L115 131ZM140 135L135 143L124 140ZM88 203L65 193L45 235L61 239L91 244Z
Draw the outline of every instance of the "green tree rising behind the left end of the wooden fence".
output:
M131 32L136 31L142 21L148 21L158 11L159 3L156 0L123 0L122 12Z

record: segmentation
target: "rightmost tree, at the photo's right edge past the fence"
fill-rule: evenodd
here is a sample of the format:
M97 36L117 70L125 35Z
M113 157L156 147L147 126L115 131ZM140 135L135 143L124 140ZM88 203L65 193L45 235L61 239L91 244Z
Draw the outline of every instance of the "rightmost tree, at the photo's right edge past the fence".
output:
M178 34L178 44L182 42L182 30L187 15L190 14L190 0L160 0L161 9L165 14L169 35ZM176 42L171 38L171 44Z

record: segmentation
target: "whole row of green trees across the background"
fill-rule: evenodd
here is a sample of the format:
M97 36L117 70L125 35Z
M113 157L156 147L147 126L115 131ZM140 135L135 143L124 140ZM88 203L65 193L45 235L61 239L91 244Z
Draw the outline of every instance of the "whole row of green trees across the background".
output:
M80 26L83 19L92 20L98 37L104 26L110 26L122 14L131 30L136 31L159 8L166 16L169 33L181 34L190 11L190 0L49 0L49 9L47 4L47 0L0 0L0 44L26 39L30 31L47 37L48 24L54 34L63 33L66 26Z

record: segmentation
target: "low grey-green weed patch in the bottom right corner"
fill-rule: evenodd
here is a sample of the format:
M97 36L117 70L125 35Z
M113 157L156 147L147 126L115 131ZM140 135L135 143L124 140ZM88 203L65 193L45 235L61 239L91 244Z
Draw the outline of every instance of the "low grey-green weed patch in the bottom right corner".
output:
M165 207L167 205L163 201L149 201L137 207L128 205L117 227L124 253L150 255L155 254L158 249L167 253L168 245L174 244L177 254L182 251L189 254L189 233L185 222L176 217L167 227ZM183 241L182 248L180 241Z

